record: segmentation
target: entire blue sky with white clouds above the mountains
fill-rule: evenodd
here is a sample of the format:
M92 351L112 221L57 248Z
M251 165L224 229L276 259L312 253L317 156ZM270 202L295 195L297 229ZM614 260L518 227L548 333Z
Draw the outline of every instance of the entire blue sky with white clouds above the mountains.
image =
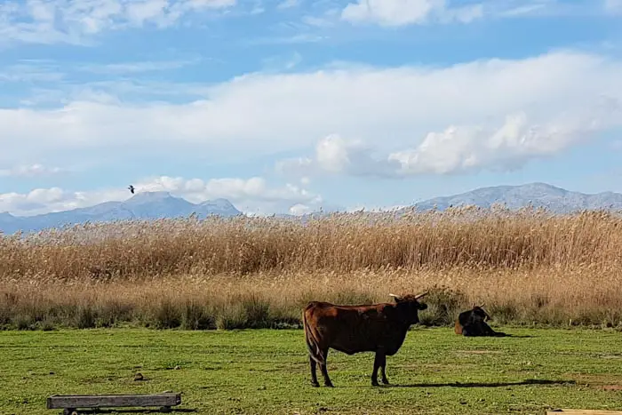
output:
M622 0L8 0L0 211L622 191Z

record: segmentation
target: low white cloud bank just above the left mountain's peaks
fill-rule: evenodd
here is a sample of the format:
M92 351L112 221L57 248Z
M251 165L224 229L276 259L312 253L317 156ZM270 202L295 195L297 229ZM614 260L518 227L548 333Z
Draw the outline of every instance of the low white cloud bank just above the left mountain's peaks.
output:
M270 186L260 177L251 179L184 179L160 176L134 184L136 193L169 192L193 203L225 198L240 211L269 214L289 211L297 205L319 206L322 197L293 184ZM66 211L109 201L124 201L132 197L125 188L106 188L89 191L68 191L61 188L37 188L28 193L0 194L0 211L18 215L33 215L51 211ZM299 208L294 208L297 210Z

